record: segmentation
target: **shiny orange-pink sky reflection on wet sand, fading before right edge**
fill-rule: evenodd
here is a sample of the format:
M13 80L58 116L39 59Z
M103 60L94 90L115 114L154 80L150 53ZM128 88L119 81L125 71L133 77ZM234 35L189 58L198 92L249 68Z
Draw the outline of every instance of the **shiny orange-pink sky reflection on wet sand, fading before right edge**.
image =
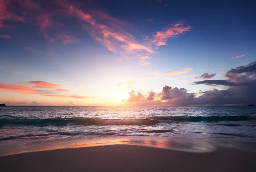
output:
M90 146L127 144L172 149L185 152L205 153L215 151L209 139L168 138L148 136L59 136L19 139L13 142L0 143L0 156L25 152L45 151L52 149L69 149Z

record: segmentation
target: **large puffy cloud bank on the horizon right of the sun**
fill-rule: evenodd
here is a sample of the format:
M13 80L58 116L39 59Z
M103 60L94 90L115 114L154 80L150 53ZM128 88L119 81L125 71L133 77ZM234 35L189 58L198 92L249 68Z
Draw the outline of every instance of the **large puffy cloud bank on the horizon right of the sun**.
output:
M146 99L140 92L129 92L128 106L195 106L195 105L248 105L256 104L256 61L246 66L231 68L224 75L227 80L203 80L194 84L229 86L228 89L199 90L189 93L187 89L164 86L162 92L155 93L155 100ZM153 93L151 93L153 95ZM149 96L148 96L149 97ZM150 100L150 101L149 101ZM134 102L134 103L132 103Z

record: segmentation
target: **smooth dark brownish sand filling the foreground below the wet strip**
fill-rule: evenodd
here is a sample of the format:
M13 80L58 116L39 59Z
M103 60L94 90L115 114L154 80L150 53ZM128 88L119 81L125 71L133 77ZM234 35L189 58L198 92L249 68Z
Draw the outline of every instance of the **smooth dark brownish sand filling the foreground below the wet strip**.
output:
M255 172L256 154L218 148L191 153L146 146L109 145L0 157L1 172Z

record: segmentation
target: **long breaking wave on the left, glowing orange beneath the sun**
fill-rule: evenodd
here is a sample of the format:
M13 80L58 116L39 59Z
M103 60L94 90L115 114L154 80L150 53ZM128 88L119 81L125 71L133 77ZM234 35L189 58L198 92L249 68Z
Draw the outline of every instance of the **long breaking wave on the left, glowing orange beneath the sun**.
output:
M47 119L0 119L0 124L63 126L63 125L154 125L160 121L151 119L103 119L103 118L47 118Z

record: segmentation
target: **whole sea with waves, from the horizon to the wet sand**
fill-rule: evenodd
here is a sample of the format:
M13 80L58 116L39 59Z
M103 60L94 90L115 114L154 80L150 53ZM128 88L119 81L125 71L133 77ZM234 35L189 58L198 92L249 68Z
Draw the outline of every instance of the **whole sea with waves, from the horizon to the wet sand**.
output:
M256 107L0 107L0 141L66 135L256 138Z

